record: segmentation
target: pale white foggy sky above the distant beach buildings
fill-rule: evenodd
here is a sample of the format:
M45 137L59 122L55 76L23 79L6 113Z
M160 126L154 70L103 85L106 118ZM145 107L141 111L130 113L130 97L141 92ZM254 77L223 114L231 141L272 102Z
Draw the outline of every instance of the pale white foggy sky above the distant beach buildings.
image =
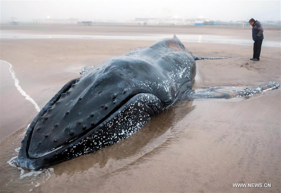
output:
M99 1L0 1L1 21L33 19L134 20L135 17L203 17L238 21L254 18L279 21L279 1L179 1L179 0L99 0Z

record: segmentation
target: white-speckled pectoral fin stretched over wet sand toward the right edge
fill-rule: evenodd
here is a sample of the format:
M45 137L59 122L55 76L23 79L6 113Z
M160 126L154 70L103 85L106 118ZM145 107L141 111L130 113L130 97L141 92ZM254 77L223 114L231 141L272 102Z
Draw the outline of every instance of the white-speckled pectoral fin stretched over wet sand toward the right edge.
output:
M198 92L189 92L182 100L191 100L198 98L234 98L249 97L255 94L273 90L279 87L278 82L267 82L255 87L245 88L244 90L235 89L236 87L210 87Z

